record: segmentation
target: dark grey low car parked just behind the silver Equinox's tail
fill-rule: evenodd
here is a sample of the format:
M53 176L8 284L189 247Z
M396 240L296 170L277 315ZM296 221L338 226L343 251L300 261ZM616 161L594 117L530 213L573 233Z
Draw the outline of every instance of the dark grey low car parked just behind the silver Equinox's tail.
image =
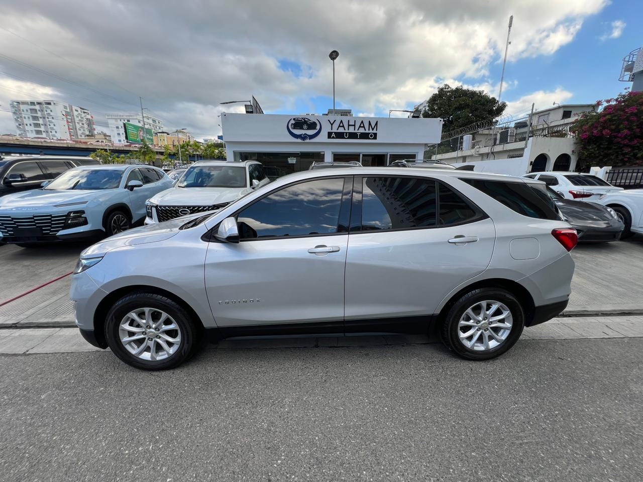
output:
M556 203L565 220L578 233L579 242L605 242L620 239L620 233L625 225L613 209L594 202L565 199L549 186L547 186L547 193Z

